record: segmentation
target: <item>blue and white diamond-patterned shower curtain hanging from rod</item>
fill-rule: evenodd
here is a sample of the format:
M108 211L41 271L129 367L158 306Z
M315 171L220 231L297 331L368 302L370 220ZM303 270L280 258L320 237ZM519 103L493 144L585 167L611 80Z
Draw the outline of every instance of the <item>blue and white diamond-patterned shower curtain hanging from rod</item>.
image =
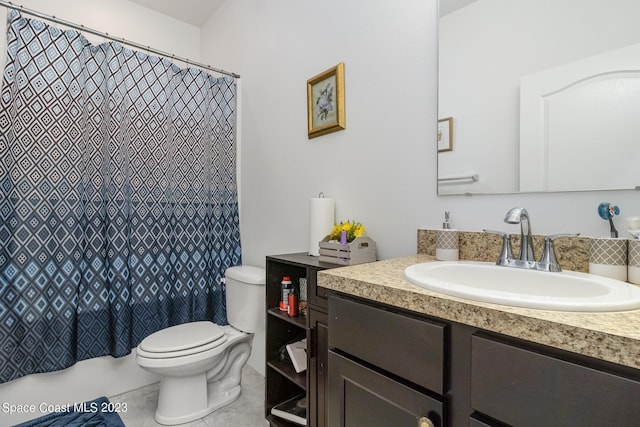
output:
M12 12L0 104L0 381L226 323L235 81Z

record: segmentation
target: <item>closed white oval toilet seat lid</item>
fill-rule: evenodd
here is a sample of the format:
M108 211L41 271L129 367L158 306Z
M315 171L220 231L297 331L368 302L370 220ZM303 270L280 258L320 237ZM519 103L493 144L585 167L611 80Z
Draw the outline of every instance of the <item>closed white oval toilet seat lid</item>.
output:
M143 339L137 354L150 359L169 359L208 351L225 341L227 335L224 329L215 323L183 323L162 329Z

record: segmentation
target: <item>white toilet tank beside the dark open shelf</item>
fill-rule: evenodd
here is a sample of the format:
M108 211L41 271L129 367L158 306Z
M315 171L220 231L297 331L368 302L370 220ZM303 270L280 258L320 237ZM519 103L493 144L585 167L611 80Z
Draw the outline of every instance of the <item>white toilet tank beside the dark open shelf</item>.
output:
M265 270L250 265L229 267L227 283L227 320L243 332L258 332L264 319Z

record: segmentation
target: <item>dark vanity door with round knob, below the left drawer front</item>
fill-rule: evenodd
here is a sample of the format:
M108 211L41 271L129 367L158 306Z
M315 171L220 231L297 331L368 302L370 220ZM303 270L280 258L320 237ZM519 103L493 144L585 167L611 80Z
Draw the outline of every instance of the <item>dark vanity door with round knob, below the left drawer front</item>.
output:
M329 351L331 427L442 427L442 402Z

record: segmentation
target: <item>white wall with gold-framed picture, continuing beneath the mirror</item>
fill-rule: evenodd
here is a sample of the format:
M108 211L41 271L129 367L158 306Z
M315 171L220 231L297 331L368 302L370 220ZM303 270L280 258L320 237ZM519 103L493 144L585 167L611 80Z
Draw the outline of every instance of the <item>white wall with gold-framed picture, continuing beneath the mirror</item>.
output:
M437 34L436 0L233 0L203 26L203 60L242 76L245 263L307 250L320 191L336 220L364 222L379 258L414 254L416 230L440 226L444 210L460 229L516 232L504 214L524 206L537 234L599 236L601 201L640 214L632 191L438 197ZM309 140L306 81L341 61L347 129Z

